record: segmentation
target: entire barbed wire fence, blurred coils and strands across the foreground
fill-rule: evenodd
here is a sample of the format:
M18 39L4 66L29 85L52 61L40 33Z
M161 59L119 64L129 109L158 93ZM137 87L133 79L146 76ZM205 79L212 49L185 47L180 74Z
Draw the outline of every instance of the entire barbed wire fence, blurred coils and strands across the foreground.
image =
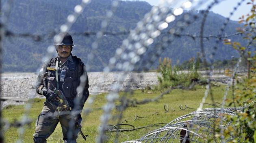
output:
M7 5L5 6L5 17L1 17L1 25L0 25L0 55L2 55L2 41L3 38L32 38L36 42L40 42L46 38L54 38L54 41L58 42L63 39L59 35L58 32L52 32L50 34L41 34L41 35L34 35L29 33L14 33L10 30L6 29L3 24L8 23L9 19L9 13L11 11L11 4L12 0L7 0ZM176 20L176 18L179 15L182 15L185 10L195 10L197 7L200 7L204 3L206 3L207 0L187 0L182 1L182 3L178 2L177 0L162 0L162 3L159 6L153 6L149 13L145 14L144 18L137 23L137 26L135 29L130 31L124 31L124 32L107 32L108 26L111 23L111 19L113 18L113 15L117 11L117 8L119 6L119 1L113 0L111 4L110 10L106 12L106 19L104 19L101 22L101 27L98 32L76 32L73 33L73 35L81 35L81 36L96 36L95 41L91 44L91 52L87 55L87 63L85 64L87 67L84 67L85 71L91 70L91 65L93 64L93 60L96 58L96 53L99 42L103 38L104 35L111 35L111 36L119 36L119 35L128 35L128 38L123 40L121 46L116 49L115 55L111 57L108 61L108 65L104 67L104 74L108 74L114 69L118 69L122 71L122 73L117 78L117 82L113 85L112 91L106 95L106 104L101 108L103 110L103 113L100 117L100 125L98 128L98 135L96 142L103 143L108 140L108 137L106 135L106 132L116 132L115 134L115 140L114 142L119 142L119 135L120 132L125 131L133 131L133 130L139 130L142 128L151 128L151 127L161 127L156 130L153 130L149 132L146 135L143 135L140 139L132 140L132 141L126 141L125 143L141 143L141 142L183 142L191 141L191 142L207 142L205 135L212 134L213 138L215 139L215 121L217 119L220 119L221 122L221 142L224 143L226 141L229 141L228 139L224 139L224 130L228 126L229 123L226 123L225 115L235 115L236 105L234 104L234 108L225 108L225 102L227 99L228 91L230 89L230 86L232 86L232 89L234 89L234 79L236 76L236 73L239 68L239 64L241 63L241 59L245 57L242 53L240 54L239 60L235 65L235 68L232 72L231 81L228 82L228 85L226 86L226 90L224 91L223 100L220 103L215 102L214 95L211 89L211 80L210 78L213 76L213 63L214 63L214 57L217 53L217 49L223 38L230 38L233 36L243 35L244 32L249 32L251 29L244 29L242 32L236 32L234 34L224 35L223 32L225 31L226 26L228 25L228 22L230 21L230 18L234 15L234 12L237 11L237 9L241 6L245 0L241 0L230 12L230 15L224 23L222 24L218 35L213 36L204 36L204 30L205 30L205 23L206 18L208 17L209 11L213 8L213 6L217 6L220 1L214 0L211 4L207 6L206 11L202 11L202 23L200 26L200 34L182 34L184 29L189 27L194 21L198 19L196 15L193 14L185 14L182 16L181 19ZM86 8L87 4L90 3L90 0L82 0L80 4L76 5L74 7L74 12L67 17L67 22L60 26L60 32L69 32L72 25L76 22L76 19L81 15L83 10ZM193 5L193 4L196 5ZM9 5L8 5L9 4ZM168 6L176 6L177 8L171 9ZM8 9L9 8L9 9ZM1 9L2 12L2 9ZM192 17L192 18L191 18ZM170 23L175 23L173 27L169 27ZM167 29L169 27L169 29ZM167 30L167 32L165 32ZM158 39L158 37L163 36L161 39ZM204 97L202 98L202 101L199 105L199 107L196 109L196 111L193 111L187 115L178 117L169 123L158 123L158 124L151 124L148 126L142 126L142 127L135 127L132 124L123 124L123 122L128 122L127 120L123 119L124 111L129 106L135 106L135 105L143 105L150 102L156 102L163 98L164 95L167 95L171 92L171 90L174 89L182 89L182 90L190 90L195 85L200 84L202 81L193 82L189 87L184 86L174 86L169 88L168 90L162 92L158 97L155 97L154 99L143 99L141 101L137 101L137 99L131 100L130 97L132 95L132 92L130 90L130 84L132 83L135 78L138 78L136 76L130 76L128 84L126 85L127 88L123 95L120 95L122 84L124 83L125 79L129 76L129 73L131 71L140 71L141 68L148 70L153 65L153 63L158 59L158 57L161 56L161 54L164 52L164 50L171 45L171 43L175 40L175 38L179 37L189 37L192 38L194 41L196 38L200 38L200 48L201 48L201 54L204 61L204 68L209 70L207 71L207 75L209 76L207 80L206 90L204 91ZM213 52L210 53L210 56L207 56L205 47L204 47L204 40L209 40L210 38L215 39L215 46L213 46ZM253 36L250 37L247 47L251 46L253 44ZM155 43L154 46L153 43ZM156 52L150 52L151 49L155 48ZM47 55L42 58L42 62L44 62L46 59L50 59L56 52L54 46L50 45L48 46ZM148 53L147 53L148 52ZM143 61L143 56L148 55L147 61ZM2 57L2 56L1 56ZM206 58L209 57L209 58ZM210 65L207 64L207 60L210 60ZM143 61L142 67L137 67L136 64L140 61ZM0 65L2 65L2 59L0 58ZM1 67L0 67L1 68ZM1 74L0 74L1 75ZM100 80L105 80L105 76L102 76ZM139 78L142 78L139 77ZM90 79L89 79L90 80ZM2 82L2 81L1 81ZM79 94L83 94L83 87L85 86L87 82L87 74L86 72L83 73L83 75L80 77L80 85L76 89L77 95L75 98L75 105L74 109L71 112L63 112L62 114L71 114L72 116L76 116L81 111L77 111L79 107L79 101L81 100L81 96ZM98 89L96 89L96 92L98 92ZM232 90L233 96L234 96L234 90ZM211 102L213 105L213 108L206 108L203 109L203 105L206 103L206 99L210 95ZM90 114L92 111L92 104L95 102L97 95L90 95L90 98L87 101L87 105L82 110L83 118L81 124L85 123L86 116ZM233 97L234 99L234 97ZM120 101L120 105L115 105L116 101ZM234 102L234 101L233 101ZM217 104L221 106L220 108L217 108ZM5 122L5 130L9 129L10 127L17 127L18 128L18 140L17 143L24 142L24 133L25 133L25 125L30 124L32 121L29 118L29 114L31 111L31 107L33 105L32 102L28 102L24 106L24 114L22 115L22 119L20 121L15 122ZM117 113L113 114L113 109L117 109ZM169 111L169 105L164 105L165 113ZM180 110L185 109L193 109L191 107L188 107L187 105L180 105ZM240 108L239 108L240 109ZM172 109L173 110L173 109ZM155 112L151 116L159 114L158 112ZM49 115L49 117L54 116L54 114ZM135 116L135 120L143 119L147 117L141 117L141 116ZM115 120L115 125L110 125L110 120ZM124 120L123 122L121 122ZM2 121L2 116L0 112L0 121ZM74 127L74 121L72 120L69 124L69 128ZM0 129L3 130L3 126L0 126ZM68 138L72 138L72 131L69 130ZM0 142L3 142L3 136L0 135ZM184 134L182 134L182 132ZM215 142L217 140L215 139Z

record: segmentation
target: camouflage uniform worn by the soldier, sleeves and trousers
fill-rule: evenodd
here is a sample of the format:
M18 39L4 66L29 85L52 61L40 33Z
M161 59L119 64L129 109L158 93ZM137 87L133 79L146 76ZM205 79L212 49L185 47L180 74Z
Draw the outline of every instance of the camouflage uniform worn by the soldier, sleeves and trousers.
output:
M37 78L37 87L36 91L38 94L43 95L42 89L48 88L50 90L54 90L57 87L57 82L55 78L55 65L58 62L58 79L60 79L60 73L62 70L66 70L65 80L64 82L59 81L59 90L63 92L66 99L69 101L72 109L74 107L74 98L77 95L76 88L80 84L80 76L85 72L84 71L84 63L77 58L76 56L72 56L72 54L68 57L65 63L61 63L59 57L52 58L46 61L43 64L43 67L39 71L39 76ZM81 112L85 101L89 96L89 84L88 84L88 76L87 81L84 87L83 95L80 97L80 101L78 103L78 113ZM79 95L78 93L78 96ZM36 121L36 128L34 133L34 140L38 140L35 142L46 143L46 139L52 134L54 129L56 128L58 122L61 124L62 132L63 132L63 140L67 141L67 139L73 139L76 141L78 130L77 127L73 127L73 129L69 129L70 124L70 116L67 114L63 114L60 116L53 116L56 107L59 105L58 101L46 101L43 103L43 109ZM82 118L81 115L78 114L78 122L80 124ZM76 128L76 129L74 129ZM72 130L72 131L70 131ZM69 132L70 131L70 132ZM68 133L69 132L69 133ZM70 134L72 133L72 134Z

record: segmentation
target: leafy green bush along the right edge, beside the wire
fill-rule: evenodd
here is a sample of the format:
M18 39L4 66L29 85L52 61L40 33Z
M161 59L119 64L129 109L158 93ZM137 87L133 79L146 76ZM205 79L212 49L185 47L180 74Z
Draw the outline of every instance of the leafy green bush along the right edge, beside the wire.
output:
M244 32L243 29L238 29L238 31L245 35L245 39L255 43L256 4L254 4L254 0L251 1L247 3L252 4L250 13L246 17L242 16L239 21L240 23L245 22L244 27L250 28L250 30ZM240 107L240 110L236 111L236 116L225 117L227 120L224 124L229 124L226 130L221 128L220 123L216 123L215 137L221 139L222 142L256 143L256 50L253 51L254 55L249 58L252 53L249 48L245 48L247 46L241 46L239 42L231 42L230 39L224 40L224 42L238 50L241 56L246 58L246 61L252 63L252 67L249 69L250 76L245 76L244 82L239 82L239 86L236 85L233 99L229 100L230 106Z

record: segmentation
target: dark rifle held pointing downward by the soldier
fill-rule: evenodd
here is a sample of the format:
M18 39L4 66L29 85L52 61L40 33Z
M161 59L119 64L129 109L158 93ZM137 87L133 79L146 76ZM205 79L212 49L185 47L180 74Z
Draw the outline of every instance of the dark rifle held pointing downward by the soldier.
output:
M67 101L67 99L66 99L66 97L64 96L63 92L62 92L61 90L57 90L56 88L53 90L53 92L56 93L56 95L59 96L59 102L60 102L61 104L63 104L63 107L64 107L67 111L71 111L72 108L70 107L69 102ZM58 108L57 108L57 109L58 109ZM57 109L56 109L56 110L57 110ZM60 112L60 111L59 111L59 112ZM87 137L88 135L84 135L84 134L82 133L82 130L81 130L82 126L78 123L78 119L76 119L75 125L76 125L76 127L78 127L78 130L79 130L79 132L80 132L82 138L84 138L85 141L86 141L86 137Z

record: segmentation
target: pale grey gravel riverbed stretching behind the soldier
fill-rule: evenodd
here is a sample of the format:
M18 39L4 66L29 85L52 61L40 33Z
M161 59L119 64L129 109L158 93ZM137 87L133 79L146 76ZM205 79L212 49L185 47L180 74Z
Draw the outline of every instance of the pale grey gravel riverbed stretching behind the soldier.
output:
M117 82L121 79L123 72L89 72L89 92L98 94L113 91ZM36 73L3 73L1 74L1 97L13 97L18 99L45 98L35 92ZM158 84L157 74L154 72L134 73L126 75L120 90L130 88L133 90L145 88ZM1 106L21 105L24 101L6 100L1 101Z

